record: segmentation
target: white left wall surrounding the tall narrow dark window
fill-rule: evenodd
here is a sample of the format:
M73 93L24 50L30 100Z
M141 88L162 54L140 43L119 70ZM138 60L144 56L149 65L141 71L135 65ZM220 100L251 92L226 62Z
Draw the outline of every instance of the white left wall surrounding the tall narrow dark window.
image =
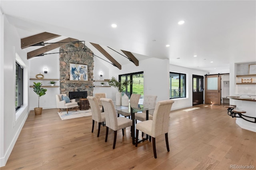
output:
M12 151L12 148L18 138L29 113L29 102L25 97L24 106L19 110L20 116L16 120L15 111L15 60L16 53L20 56L25 69L29 71L29 62L26 59L27 54L20 48L20 37L16 28L9 24L1 11L1 56L0 56L0 166L4 166ZM24 77L24 95L28 96L28 77ZM27 79L27 80L26 80Z

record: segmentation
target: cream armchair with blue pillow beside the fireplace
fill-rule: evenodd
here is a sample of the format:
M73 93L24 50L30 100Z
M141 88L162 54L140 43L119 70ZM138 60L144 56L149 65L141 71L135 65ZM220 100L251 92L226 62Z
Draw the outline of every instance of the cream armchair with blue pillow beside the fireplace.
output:
M77 109L78 103L76 102L76 99L69 99L66 94L59 94L56 95L56 104L57 108L59 109L66 109L68 114L68 109L74 107Z

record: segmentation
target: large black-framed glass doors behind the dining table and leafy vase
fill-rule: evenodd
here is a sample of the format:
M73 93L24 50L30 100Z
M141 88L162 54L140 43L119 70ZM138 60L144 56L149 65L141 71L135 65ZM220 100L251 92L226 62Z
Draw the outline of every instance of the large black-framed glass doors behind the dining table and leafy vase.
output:
M141 98L143 98L144 95L144 75L142 72L136 72L136 73L128 73L119 75L119 81L125 81L125 80L131 80L132 85L128 85L123 93L126 93L126 95L129 97L132 93L134 94L140 94Z

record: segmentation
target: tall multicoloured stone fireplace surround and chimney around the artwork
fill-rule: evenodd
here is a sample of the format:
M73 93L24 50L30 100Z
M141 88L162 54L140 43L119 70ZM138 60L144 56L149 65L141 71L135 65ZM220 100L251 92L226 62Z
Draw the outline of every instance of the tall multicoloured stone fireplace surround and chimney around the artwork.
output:
M82 50L86 48L86 51ZM79 51L77 51L79 50ZM66 52L73 51L73 52ZM93 95L93 52L81 42L69 43L60 47L60 94L69 96L69 92L86 91L86 97ZM85 64L88 66L88 81L69 81L70 63ZM79 101L78 101L79 102Z

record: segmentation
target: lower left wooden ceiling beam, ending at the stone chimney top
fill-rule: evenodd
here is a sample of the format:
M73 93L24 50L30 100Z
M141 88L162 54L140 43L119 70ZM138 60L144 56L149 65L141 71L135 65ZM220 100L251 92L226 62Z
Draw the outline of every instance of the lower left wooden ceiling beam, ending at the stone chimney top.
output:
M36 50L34 50L34 51L28 52L28 53L27 53L27 59L33 58L33 57L35 57L35 56L37 56L37 55L40 55L40 54L42 54L42 53L46 53L46 52L48 52L48 51L51 51L51 50L53 50L53 49L56 49L56 48L58 48L58 47L61 47L61 46L63 46L63 45L66 45L66 44L68 44L68 43L75 42L75 41L77 41L77 39L74 39L74 38L66 38L66 39L61 40L61 41L58 41L58 42L56 42L56 43L51 43L51 44L49 44L49 45L46 45L46 46L41 47L41 48L39 48L39 49L36 49Z

